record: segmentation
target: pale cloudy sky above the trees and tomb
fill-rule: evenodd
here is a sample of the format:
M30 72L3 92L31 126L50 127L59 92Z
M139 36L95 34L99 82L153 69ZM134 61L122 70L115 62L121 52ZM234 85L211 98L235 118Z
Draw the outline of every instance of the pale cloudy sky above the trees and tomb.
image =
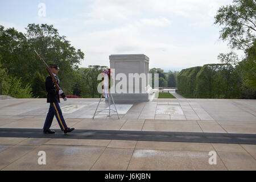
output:
M46 16L39 16L40 3ZM24 32L28 23L53 24L85 53L80 67L106 65L109 55L144 53L150 68L180 70L219 63L229 52L214 15L231 0L1 1L0 24ZM40 11L40 12L39 12ZM39 14L38 14L39 13Z

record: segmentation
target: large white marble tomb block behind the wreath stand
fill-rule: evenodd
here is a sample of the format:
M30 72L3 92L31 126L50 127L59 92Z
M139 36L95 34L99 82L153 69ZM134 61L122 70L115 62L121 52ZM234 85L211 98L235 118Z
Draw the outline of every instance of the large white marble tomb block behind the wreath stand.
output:
M149 101L152 88L148 79L149 58L144 54L110 55L114 80L110 89L114 101ZM106 99L108 101L108 99Z

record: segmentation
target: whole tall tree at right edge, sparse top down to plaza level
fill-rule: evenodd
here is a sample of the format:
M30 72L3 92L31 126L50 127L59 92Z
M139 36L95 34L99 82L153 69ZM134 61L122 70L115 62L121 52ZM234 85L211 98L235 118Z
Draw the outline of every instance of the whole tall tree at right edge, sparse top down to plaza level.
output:
M220 39L227 41L232 51L220 53L222 63L236 66L240 75L242 98L255 98L256 93L256 2L234 0L233 5L222 6L214 17L221 26ZM245 57L238 59L234 49L243 50Z

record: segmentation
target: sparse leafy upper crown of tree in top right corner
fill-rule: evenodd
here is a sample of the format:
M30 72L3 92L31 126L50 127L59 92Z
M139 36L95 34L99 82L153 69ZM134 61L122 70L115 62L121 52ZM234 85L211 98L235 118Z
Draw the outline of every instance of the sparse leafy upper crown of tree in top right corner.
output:
M214 24L222 27L220 39L228 40L232 49L245 51L253 45L256 32L255 0L234 0L233 5L221 6L214 19Z

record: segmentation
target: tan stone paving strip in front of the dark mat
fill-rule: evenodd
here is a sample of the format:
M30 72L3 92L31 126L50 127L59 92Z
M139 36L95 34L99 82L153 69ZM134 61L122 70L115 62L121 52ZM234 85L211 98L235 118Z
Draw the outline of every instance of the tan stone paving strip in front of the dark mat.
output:
M255 145L0 138L2 170L255 170ZM38 152L46 152L46 165ZM210 165L209 151L217 152Z

